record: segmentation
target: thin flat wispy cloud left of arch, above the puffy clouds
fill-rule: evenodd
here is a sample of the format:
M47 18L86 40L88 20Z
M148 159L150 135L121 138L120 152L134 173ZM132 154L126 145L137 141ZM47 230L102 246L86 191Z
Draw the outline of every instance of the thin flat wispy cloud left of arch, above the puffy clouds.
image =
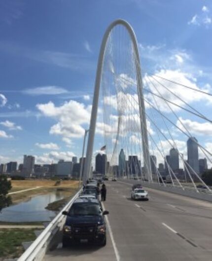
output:
M42 86L32 89L25 89L22 91L24 94L29 95L58 95L68 93L68 91L58 86Z

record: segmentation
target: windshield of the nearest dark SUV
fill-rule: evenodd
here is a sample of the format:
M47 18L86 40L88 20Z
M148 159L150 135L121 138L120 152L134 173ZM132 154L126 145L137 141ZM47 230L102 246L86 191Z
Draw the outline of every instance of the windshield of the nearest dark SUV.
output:
M69 216L99 216L100 213L99 204L79 203L71 206Z

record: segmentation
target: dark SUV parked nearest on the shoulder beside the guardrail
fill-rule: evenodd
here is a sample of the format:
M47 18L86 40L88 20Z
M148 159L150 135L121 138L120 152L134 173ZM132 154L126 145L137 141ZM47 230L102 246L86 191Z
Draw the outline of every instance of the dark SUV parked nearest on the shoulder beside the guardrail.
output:
M99 200L78 198L70 210L64 211L67 215L63 228L63 247L68 247L71 243L95 241L100 246L106 245L106 223L105 215L108 211L103 211Z

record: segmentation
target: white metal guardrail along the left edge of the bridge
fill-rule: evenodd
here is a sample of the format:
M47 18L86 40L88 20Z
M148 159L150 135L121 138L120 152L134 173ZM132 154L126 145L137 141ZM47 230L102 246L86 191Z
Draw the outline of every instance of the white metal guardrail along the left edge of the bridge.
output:
M59 230L60 224L65 220L66 216L62 215L63 211L67 211L73 201L79 196L82 188L71 198L70 202L60 211L60 213L46 226L29 248L22 254L18 261L41 261L48 250L48 246Z

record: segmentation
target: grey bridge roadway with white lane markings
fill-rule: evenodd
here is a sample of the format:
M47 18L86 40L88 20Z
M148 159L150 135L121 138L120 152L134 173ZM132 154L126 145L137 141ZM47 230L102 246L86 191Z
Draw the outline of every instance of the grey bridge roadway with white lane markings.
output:
M130 184L106 186L106 247L59 244L44 261L212 261L211 203L150 188L133 201Z

